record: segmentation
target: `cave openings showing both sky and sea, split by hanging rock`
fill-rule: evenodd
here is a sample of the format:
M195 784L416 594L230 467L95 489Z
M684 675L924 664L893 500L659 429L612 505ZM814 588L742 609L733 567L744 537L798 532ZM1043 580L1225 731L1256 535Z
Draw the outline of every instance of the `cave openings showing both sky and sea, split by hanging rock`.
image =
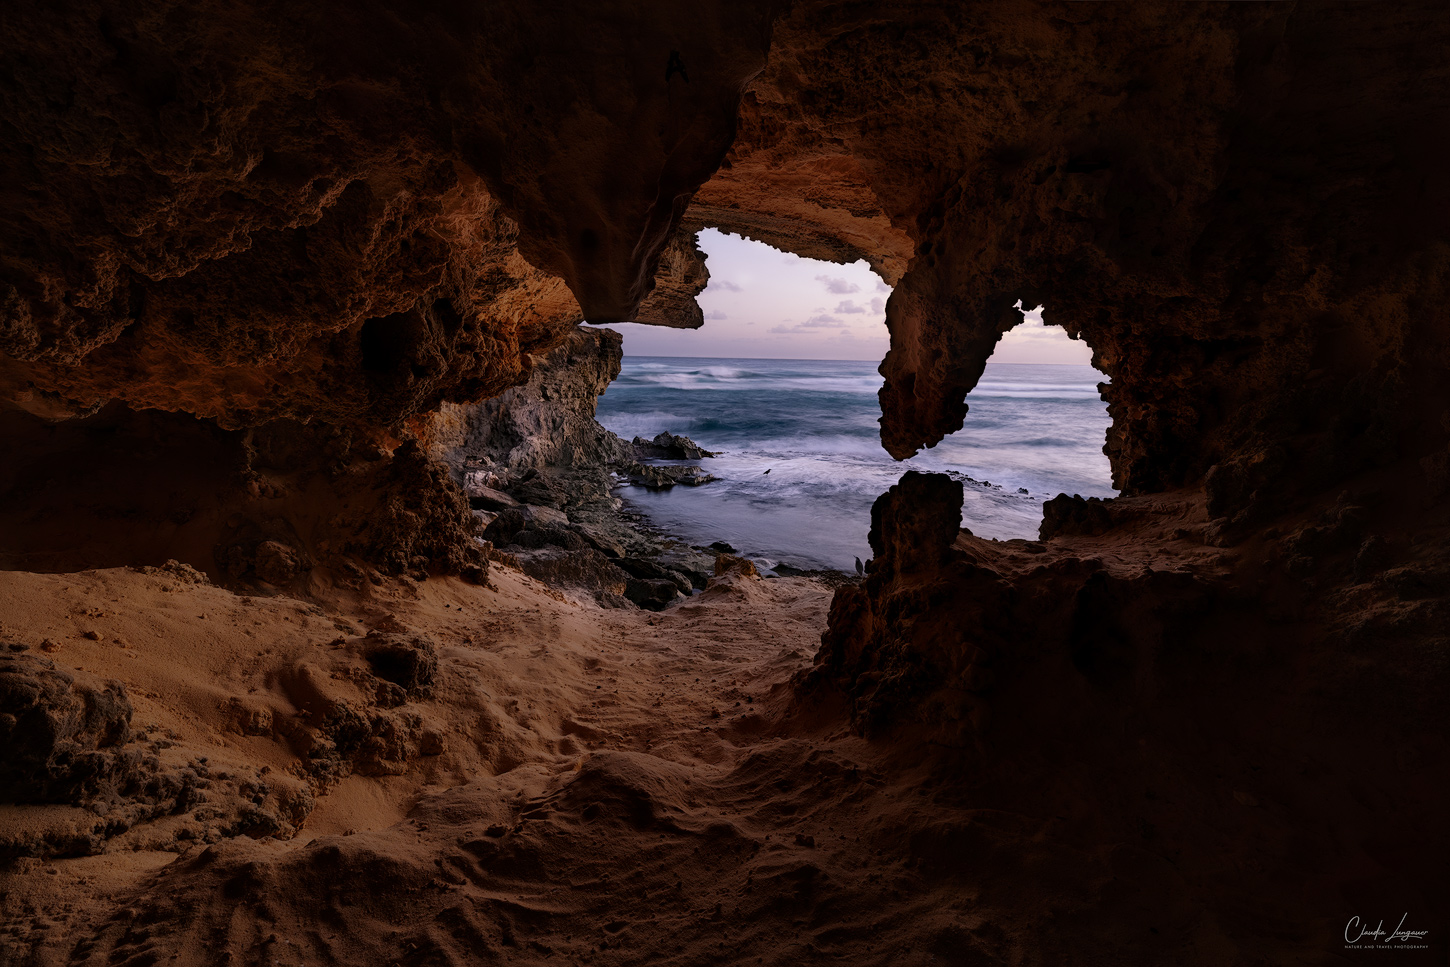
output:
M906 470L961 478L966 526L993 538L1035 538L1043 500L1063 490L1112 493L1103 377L1040 312L999 344L966 428L898 462L882 449L876 399L890 287L866 262L800 258L716 231L699 245L710 270L705 328L616 326L624 368L597 412L626 441L670 432L718 451L679 461L712 483L621 491L666 532L724 541L777 571L851 571L870 557L871 505Z

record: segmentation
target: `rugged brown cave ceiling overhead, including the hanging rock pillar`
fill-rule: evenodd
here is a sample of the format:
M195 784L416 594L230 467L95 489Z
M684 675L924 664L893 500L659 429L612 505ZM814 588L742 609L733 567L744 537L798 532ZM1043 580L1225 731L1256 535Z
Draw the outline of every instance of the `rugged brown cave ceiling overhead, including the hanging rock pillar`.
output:
M1393 420L1450 364L1433 4L0 19L0 397L45 418L396 426L580 319L700 325L716 226L893 284L896 457L961 426L1018 299L1111 377L1128 493L1444 442Z

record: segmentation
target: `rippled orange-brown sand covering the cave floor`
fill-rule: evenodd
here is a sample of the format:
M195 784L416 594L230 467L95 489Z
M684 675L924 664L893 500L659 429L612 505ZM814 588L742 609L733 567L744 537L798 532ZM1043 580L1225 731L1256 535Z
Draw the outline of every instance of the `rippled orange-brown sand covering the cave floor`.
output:
M792 706L828 606L734 574L655 615L503 567L318 603L0 573L0 638L123 681L162 760L209 779L100 855L0 873L0 963L970 963L927 767ZM319 719L371 702L371 629L436 642L431 693L393 713L441 741L319 783ZM226 835L255 789L316 805L290 838ZM0 831L87 818L12 806Z

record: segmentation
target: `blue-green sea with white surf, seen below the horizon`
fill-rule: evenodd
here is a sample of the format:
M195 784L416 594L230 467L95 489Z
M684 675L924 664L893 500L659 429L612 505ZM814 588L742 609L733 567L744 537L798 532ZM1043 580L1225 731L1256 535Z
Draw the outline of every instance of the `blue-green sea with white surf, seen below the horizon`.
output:
M989 362L966 426L902 462L880 445L874 362L625 357L597 418L625 439L670 431L721 451L697 461L715 483L619 491L663 531L766 565L851 571L870 558L871 503L908 470L957 474L961 523L986 538L1035 538L1058 493L1114 496L1105 378Z

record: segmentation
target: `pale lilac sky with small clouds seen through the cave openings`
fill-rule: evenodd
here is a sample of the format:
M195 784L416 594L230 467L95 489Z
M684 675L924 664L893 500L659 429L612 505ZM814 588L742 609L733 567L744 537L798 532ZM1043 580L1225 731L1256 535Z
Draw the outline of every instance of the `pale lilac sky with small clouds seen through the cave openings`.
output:
M864 262L838 265L782 252L715 229L700 232L710 284L700 293L705 326L666 329L612 323L625 355L764 360L871 360L886 355L890 286ZM993 362L1088 364L1092 351L1028 312L998 344Z

